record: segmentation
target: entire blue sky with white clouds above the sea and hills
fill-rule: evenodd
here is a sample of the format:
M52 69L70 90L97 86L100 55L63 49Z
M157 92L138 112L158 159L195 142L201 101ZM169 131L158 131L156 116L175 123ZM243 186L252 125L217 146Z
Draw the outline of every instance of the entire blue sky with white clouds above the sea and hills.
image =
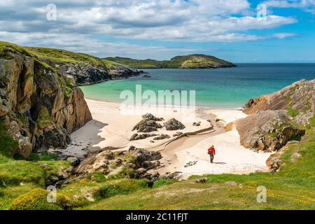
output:
M0 40L98 57L315 63L315 0L1 0Z

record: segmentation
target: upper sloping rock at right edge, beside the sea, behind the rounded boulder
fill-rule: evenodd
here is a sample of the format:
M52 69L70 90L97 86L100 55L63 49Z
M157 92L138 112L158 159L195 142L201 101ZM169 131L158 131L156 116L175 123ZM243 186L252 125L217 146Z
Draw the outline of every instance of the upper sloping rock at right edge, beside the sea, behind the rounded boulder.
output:
M315 80L300 80L279 92L250 99L243 110L247 114L257 111L285 110L296 123L305 125L309 123L315 112Z

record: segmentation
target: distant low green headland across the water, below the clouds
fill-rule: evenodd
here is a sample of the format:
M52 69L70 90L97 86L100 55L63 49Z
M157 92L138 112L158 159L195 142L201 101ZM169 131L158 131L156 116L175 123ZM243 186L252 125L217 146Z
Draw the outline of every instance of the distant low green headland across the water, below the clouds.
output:
M235 64L210 55L176 56L170 60L132 59L128 57L106 57L111 62L125 64L134 69L217 69Z

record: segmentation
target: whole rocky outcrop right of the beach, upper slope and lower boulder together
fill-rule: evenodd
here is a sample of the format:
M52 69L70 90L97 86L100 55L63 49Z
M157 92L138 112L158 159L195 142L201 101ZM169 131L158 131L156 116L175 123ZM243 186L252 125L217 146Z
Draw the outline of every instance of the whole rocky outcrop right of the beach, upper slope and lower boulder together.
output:
M260 151L279 151L288 141L300 141L315 111L315 80L300 80L279 92L250 99L247 118L235 121L241 145ZM272 165L271 165L272 166ZM274 163L274 169L277 169Z

